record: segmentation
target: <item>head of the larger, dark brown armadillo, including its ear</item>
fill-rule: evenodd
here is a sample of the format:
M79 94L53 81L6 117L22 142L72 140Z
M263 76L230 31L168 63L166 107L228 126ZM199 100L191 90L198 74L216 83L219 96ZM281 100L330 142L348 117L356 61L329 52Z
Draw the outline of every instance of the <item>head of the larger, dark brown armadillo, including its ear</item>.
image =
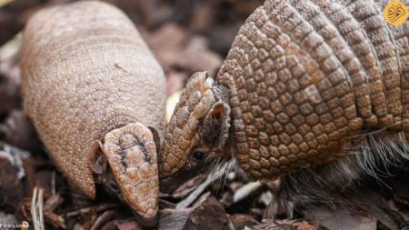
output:
M173 191L187 178L226 158L230 106L226 90L206 72L193 75L165 131L159 168L161 190Z

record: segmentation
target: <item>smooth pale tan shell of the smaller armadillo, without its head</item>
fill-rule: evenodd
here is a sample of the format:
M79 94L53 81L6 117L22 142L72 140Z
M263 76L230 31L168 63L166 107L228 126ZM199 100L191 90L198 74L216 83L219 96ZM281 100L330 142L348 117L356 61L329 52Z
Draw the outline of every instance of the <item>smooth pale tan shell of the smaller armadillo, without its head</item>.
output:
M26 114L58 168L91 198L95 141L135 122L164 131L162 68L135 25L111 5L79 2L36 13L25 28L22 71ZM145 172L152 174L157 179L157 172ZM154 190L157 181L145 187Z

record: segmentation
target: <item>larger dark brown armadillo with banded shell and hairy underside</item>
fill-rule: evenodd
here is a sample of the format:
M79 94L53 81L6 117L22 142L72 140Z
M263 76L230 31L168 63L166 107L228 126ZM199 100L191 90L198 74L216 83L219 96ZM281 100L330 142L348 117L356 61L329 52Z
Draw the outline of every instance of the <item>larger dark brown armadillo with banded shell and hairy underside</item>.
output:
M371 173L376 158L407 158L409 23L387 25L383 6L265 1L215 82L198 73L186 85L159 155L161 189L231 159L262 180L326 163L324 179L344 184L350 162Z

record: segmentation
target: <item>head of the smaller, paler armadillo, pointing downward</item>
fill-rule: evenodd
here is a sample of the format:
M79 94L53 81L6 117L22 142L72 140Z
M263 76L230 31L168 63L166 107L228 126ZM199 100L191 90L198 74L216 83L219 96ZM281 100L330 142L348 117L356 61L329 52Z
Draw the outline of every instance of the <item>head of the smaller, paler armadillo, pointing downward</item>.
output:
M132 123L96 142L91 157L95 182L129 205L141 225L157 223L159 173L155 138L149 128Z

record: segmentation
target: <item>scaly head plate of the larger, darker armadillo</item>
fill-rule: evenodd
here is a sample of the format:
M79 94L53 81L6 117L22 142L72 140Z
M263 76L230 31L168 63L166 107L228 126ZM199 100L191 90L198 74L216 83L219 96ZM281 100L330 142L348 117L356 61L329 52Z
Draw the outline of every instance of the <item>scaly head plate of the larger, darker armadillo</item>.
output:
M199 144L199 126L214 105L214 81L206 72L196 73L187 83L165 131L165 144L160 155L161 178L175 175L188 165Z

